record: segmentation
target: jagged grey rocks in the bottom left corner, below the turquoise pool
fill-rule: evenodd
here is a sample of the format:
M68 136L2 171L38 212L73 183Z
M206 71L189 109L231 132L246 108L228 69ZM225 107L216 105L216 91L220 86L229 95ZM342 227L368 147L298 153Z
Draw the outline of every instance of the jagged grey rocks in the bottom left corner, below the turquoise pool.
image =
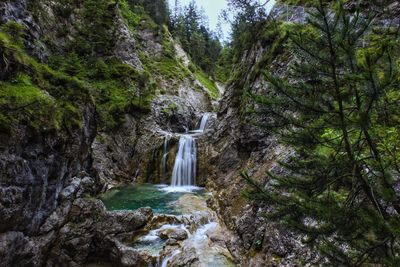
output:
M34 236L22 231L0 234L1 266L82 266L91 261L145 265L147 255L122 240L147 224L151 209L107 212L100 200L80 198L92 186L89 177L74 178Z

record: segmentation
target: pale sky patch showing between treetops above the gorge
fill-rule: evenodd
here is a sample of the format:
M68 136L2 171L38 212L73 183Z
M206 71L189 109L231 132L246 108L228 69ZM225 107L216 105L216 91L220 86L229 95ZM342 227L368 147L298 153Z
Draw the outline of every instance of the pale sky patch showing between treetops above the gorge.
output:
M191 0L179 0L179 3L181 6L186 6L189 4ZM168 0L169 6L171 8L174 7L175 5L175 0ZM195 0L197 6L199 8L203 8L206 16L208 17L209 20L209 27L211 30L216 31L217 29L217 24L219 21L219 15L221 14L221 11L226 9L228 7L227 0ZM275 3L275 0L270 0L270 3L268 3L269 7L272 7L273 4ZM230 25L229 23L224 22L222 19L221 21L221 29L223 32L223 40L228 40L229 38L229 33L230 33Z

